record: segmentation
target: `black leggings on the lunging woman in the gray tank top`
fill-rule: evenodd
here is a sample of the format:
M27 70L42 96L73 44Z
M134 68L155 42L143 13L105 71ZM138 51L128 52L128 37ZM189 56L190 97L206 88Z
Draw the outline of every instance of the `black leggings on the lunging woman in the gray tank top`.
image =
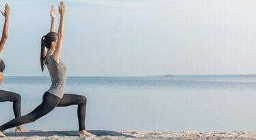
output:
M50 94L49 92L44 93L42 103L39 104L34 111L31 111L31 113L28 113L27 115L16 117L10 122L3 124L3 126L0 126L0 130L3 132L8 128L34 122L40 117L51 112L55 107L66 107L74 104L78 104L77 115L79 121L79 130L85 130L86 97L75 94L64 94L63 98L59 98L53 94Z

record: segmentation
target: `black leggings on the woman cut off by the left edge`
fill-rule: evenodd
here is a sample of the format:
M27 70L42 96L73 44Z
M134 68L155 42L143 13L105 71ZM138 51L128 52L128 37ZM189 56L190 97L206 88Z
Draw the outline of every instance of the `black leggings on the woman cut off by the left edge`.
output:
M14 116L21 116L21 96L19 94L0 90L0 102L13 102L12 108L14 111Z

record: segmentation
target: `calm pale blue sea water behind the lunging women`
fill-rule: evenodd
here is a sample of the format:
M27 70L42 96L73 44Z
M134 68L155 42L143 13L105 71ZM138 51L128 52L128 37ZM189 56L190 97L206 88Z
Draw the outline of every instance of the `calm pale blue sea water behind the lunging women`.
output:
M49 77L5 76L1 89L21 94L25 115L50 85ZM68 77L66 93L87 96L89 130L256 130L255 75ZM13 117L12 103L0 102L0 124ZM77 106L25 127L77 130Z

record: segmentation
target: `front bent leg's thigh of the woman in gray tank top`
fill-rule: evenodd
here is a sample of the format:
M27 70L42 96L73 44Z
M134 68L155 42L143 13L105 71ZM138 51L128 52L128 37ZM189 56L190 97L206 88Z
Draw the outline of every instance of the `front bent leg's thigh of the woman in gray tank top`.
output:
M81 102L81 100L83 100L84 98L84 96L77 94L64 94L62 100L60 100L60 103L57 104L57 107L66 107L79 104L79 102Z

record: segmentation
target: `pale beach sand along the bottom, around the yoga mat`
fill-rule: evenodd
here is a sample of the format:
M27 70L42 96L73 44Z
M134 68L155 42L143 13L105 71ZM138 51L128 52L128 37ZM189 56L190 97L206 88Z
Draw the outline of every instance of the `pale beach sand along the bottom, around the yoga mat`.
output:
M185 132L170 132L170 131L121 131L127 135L133 135L136 138L129 137L114 137L114 136L101 136L101 137L5 137L0 138L7 140L81 140L81 139L107 139L107 140L118 140L118 139L209 139L209 140L220 140L220 139L256 139L256 132L244 132L244 131L230 131L230 132L197 132L197 131L185 131Z

